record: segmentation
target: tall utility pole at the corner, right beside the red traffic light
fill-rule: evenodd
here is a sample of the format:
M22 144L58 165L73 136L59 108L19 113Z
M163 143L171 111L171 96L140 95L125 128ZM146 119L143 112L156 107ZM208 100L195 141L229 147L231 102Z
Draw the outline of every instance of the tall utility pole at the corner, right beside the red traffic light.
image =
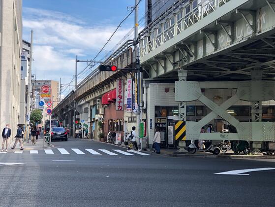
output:
M135 36L134 36L134 50L135 50L135 57L136 57L136 67L137 67L137 88L138 93L137 96L137 135L140 134L140 120L142 118L140 112L140 103L141 103L141 84L140 84L140 64L139 64L139 53L138 53L138 1L135 0ZM142 139L140 139L140 148L142 149Z

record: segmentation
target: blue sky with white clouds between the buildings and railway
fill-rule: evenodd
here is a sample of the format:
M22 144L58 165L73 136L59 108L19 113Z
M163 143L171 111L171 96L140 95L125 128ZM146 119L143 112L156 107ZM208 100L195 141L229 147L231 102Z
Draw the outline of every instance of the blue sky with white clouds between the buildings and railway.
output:
M145 0L139 4L139 19L144 15L144 4ZM61 77L67 84L75 73L75 55L80 60L92 59L130 12L127 6L133 5L134 0L23 0L23 39L30 41L31 29L34 31L32 73L37 79L59 81ZM134 12L97 60L111 51L133 24ZM79 63L79 71L85 66ZM63 95L68 92L69 88Z

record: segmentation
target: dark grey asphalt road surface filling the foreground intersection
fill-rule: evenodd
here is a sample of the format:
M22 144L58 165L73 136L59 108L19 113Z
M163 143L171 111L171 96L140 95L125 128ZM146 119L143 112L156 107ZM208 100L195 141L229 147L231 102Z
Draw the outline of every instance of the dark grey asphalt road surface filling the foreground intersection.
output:
M124 148L89 140L54 144L53 154L0 154L0 207L275 206L275 170L214 174L275 168L271 160L124 155L115 151Z

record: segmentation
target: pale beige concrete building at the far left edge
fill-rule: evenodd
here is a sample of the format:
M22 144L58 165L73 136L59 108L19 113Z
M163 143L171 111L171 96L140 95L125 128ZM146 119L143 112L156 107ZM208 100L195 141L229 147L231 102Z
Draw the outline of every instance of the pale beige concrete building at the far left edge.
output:
M21 52L22 0L0 0L0 130L10 124L9 141L20 121Z

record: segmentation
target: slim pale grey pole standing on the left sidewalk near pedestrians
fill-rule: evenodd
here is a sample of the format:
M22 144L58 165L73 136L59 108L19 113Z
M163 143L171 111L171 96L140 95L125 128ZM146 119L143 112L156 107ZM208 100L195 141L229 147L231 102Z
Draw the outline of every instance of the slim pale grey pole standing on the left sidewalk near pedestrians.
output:
M28 98L27 98L27 111L26 111L26 136L25 139L29 140L29 130L30 130L30 107L31 107L31 63L32 63L32 34L31 30L31 51L30 51L30 67L29 67L29 77L28 77Z

